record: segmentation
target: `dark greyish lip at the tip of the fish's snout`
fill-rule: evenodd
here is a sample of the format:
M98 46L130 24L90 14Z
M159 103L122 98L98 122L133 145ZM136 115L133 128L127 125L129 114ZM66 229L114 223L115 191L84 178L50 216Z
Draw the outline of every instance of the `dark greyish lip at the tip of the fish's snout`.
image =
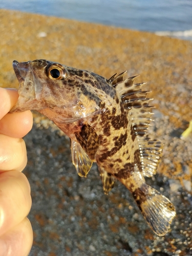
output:
M22 83L25 81L25 78L27 76L27 72L29 70L29 63L18 62L17 60L13 60L13 69L17 77L17 80L19 81L19 83Z

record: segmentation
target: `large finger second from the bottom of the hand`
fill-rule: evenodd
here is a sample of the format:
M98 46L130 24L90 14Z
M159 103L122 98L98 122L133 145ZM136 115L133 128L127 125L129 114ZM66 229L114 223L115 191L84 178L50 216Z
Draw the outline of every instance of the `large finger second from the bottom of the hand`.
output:
M29 182L20 172L2 173L0 187L0 236L2 236L28 215L31 196Z

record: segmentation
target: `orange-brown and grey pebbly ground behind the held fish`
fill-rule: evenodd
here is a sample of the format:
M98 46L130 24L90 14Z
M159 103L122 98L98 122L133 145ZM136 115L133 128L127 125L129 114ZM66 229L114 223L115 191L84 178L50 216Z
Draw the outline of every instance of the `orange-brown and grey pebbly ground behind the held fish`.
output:
M140 75L154 98L149 133L164 150L157 175L147 183L168 197L177 216L158 237L119 182L104 195L97 166L80 178L69 139L47 118L34 114L24 138L31 185L30 256L192 255L192 42L45 15L0 10L0 87L18 88L12 61L48 59L110 78L127 70Z

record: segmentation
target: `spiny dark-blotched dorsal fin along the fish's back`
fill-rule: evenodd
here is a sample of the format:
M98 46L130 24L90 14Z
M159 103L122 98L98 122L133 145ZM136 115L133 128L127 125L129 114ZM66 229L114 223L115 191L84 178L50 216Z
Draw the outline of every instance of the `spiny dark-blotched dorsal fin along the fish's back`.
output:
M146 132L152 121L153 113L151 111L154 107L149 104L152 99L146 97L149 91L141 90L145 83L134 83L136 77L132 76L121 80L114 87L124 109L127 110L132 122L132 129L138 140L143 175L151 177L156 173L162 154L162 143L147 137Z

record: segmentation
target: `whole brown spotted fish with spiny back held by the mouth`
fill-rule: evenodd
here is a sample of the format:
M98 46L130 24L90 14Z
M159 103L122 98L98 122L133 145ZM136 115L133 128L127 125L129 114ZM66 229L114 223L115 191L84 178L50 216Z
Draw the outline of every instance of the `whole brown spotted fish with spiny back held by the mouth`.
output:
M143 83L134 83L136 76L123 79L125 72L105 79L45 59L14 60L13 68L20 85L11 112L36 110L51 119L71 139L79 176L96 162L105 194L119 180L153 231L168 232L174 205L144 179L156 173L162 144L147 136L152 106Z

